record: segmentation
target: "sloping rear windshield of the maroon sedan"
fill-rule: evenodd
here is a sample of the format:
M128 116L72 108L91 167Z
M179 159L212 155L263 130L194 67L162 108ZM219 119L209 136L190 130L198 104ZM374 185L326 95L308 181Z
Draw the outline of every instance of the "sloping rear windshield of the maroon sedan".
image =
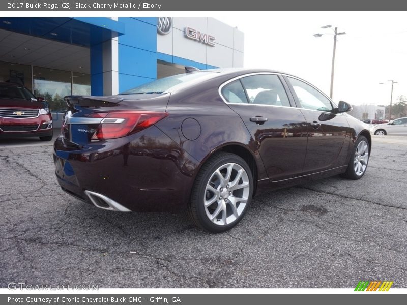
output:
M193 85L210 79L214 73L215 72L193 72L168 76L132 88L121 94L159 94L173 92L183 86Z

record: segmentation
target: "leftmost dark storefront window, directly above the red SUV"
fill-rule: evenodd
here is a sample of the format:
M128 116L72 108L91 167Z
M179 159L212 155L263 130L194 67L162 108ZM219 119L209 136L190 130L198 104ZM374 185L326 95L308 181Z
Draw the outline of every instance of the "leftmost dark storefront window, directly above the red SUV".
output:
M0 61L0 82L14 82L32 91L31 66Z

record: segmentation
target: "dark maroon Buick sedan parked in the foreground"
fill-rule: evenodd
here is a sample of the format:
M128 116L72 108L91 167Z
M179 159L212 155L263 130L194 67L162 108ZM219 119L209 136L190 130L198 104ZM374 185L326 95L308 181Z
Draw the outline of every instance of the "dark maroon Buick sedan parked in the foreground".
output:
M115 211L187 210L221 232L254 194L361 178L368 126L308 82L266 70L170 76L117 96L68 96L54 144L62 189Z

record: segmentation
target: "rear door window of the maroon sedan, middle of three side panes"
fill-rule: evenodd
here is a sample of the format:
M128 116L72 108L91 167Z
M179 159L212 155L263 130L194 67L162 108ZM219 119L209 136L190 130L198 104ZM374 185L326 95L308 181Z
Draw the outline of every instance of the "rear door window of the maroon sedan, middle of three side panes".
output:
M241 78L249 103L290 107L284 87L277 75L259 74Z

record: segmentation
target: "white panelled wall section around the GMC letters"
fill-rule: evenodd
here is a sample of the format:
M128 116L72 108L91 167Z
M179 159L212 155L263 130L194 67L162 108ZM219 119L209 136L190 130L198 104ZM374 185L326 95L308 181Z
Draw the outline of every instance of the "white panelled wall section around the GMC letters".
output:
M185 27L215 37L215 46L188 39ZM172 31L157 34L157 52L221 68L243 67L244 33L210 17L173 17Z

